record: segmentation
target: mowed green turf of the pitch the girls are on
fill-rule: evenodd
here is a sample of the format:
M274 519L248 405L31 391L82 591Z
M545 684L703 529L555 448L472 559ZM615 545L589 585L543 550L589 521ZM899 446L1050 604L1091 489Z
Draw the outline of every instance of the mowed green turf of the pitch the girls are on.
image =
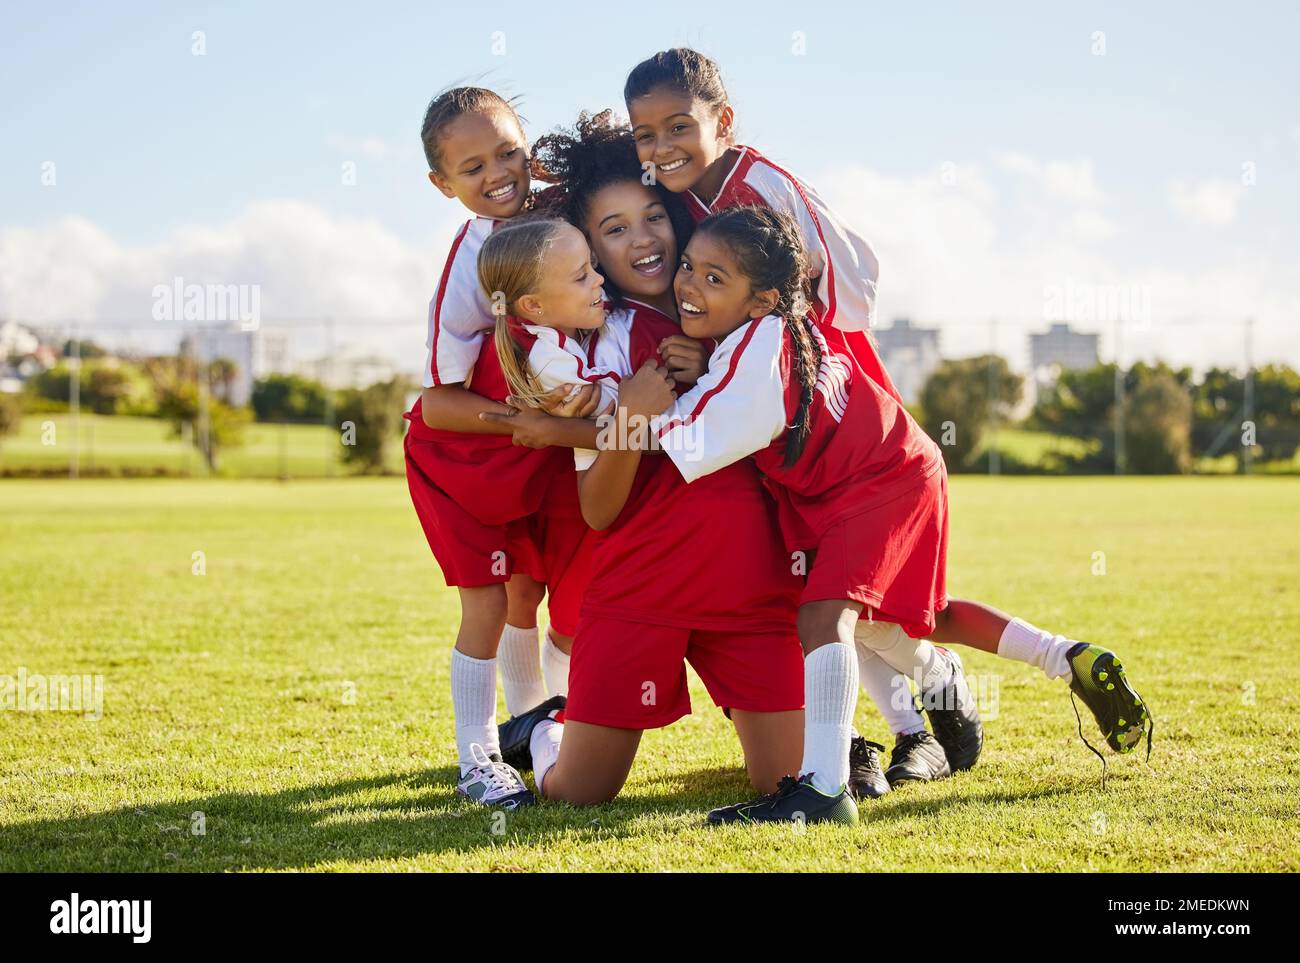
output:
M1117 648L1150 764L1108 752L1102 789L1066 686L967 651L974 771L852 829L710 829L750 789L694 676L610 806L454 794L456 599L400 480L0 482L0 676L104 677L99 721L0 712L0 869L1300 869L1300 483L952 499L950 590ZM883 741L864 699L858 728Z

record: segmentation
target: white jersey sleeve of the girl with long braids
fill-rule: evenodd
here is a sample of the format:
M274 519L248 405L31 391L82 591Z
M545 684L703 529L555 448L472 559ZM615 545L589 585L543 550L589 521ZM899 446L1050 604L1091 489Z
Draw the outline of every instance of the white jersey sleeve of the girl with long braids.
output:
M733 331L696 386L654 420L659 444L685 481L762 451L785 430L784 324L768 315Z

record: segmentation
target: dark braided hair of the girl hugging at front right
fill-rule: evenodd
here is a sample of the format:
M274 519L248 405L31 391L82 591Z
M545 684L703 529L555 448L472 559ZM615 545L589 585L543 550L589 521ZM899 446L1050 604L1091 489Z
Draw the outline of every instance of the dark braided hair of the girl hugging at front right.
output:
M775 289L774 313L785 320L796 348L796 373L800 378L800 408L785 441L785 467L798 461L812 428L810 409L822 350L812 335L805 289L807 255L798 222L784 211L742 205L727 208L699 222L697 230L720 242L731 251L751 291Z

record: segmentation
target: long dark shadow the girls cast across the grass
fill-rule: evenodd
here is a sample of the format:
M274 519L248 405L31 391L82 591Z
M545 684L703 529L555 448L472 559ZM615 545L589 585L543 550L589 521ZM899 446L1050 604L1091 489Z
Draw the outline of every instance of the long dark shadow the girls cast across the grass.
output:
M481 854L486 869L506 845L545 851L549 842L619 838L645 832L646 817L702 823L705 808L718 804L697 782L686 794L625 793L599 807L542 802L504 814L458 797L456 775L442 767L0 825L0 872L307 869L448 853ZM742 772L728 776L748 786Z

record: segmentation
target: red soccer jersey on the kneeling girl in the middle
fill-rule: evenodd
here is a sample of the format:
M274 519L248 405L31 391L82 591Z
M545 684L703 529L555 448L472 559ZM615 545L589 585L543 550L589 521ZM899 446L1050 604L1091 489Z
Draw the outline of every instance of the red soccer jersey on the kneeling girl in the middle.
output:
M662 364L659 342L673 334L676 321L628 300L592 363L623 374ZM686 485L668 459L644 455L623 512L597 534L592 573L585 613L689 629L789 629L801 589L748 459Z

